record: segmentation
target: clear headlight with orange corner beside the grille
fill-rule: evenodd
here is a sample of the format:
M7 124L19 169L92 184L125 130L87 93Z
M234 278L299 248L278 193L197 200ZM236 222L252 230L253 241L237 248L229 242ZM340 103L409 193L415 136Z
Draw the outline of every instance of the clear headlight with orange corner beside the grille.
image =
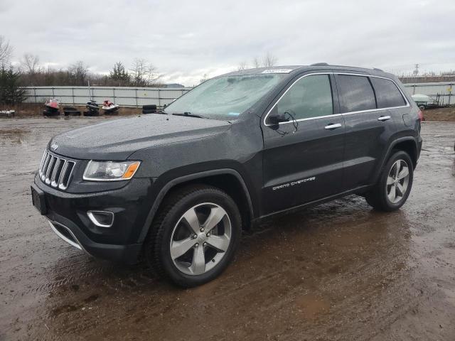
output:
M90 161L82 178L90 181L129 180L140 164L141 161Z

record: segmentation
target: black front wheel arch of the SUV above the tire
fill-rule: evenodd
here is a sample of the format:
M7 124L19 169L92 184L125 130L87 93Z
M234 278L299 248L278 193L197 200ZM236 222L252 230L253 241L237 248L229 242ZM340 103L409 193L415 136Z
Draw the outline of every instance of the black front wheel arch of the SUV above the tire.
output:
M231 168L223 168L183 175L168 181L168 183L161 188L159 194L156 196L156 200L154 200L154 203L151 206L144 226L142 227L141 234L139 234L139 243L144 242L147 234L149 233L151 223L156 216L156 212L159 211L159 208L166 197L173 191L191 184L212 185L220 188L221 190L225 190L225 192L228 193L228 195L230 195L236 202L240 210L240 214L242 215L242 227L249 227L250 222L255 217L255 214L247 185L240 173Z

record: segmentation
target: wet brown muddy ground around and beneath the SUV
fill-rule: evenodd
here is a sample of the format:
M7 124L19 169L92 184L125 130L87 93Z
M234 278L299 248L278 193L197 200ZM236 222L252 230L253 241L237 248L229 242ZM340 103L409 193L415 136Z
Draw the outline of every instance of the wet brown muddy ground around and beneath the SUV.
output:
M29 184L50 136L100 119L0 119L0 340L455 340L455 122L424 122L406 205L350 196L245 234L188 290L55 235Z

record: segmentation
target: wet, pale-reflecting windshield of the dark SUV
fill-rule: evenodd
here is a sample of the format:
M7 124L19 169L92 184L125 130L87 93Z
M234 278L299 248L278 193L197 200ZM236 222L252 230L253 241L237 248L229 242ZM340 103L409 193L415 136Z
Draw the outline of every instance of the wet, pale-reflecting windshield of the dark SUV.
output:
M218 77L203 82L166 107L166 114L188 114L213 119L236 119L252 107L284 75Z

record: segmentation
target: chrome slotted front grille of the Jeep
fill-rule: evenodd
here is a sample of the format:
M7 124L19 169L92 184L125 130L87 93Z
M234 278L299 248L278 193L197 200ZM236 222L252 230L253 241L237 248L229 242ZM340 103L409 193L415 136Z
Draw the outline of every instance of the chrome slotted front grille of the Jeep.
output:
M74 161L55 156L45 150L41 159L39 176L45 184L60 190L66 190L70 183L70 176L73 173L74 166Z

